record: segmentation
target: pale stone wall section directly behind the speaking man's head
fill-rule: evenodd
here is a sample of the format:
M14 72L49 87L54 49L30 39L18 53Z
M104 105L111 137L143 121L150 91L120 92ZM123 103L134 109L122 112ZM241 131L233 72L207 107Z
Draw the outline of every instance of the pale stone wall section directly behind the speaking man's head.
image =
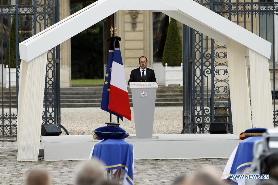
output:
M124 64L126 82L130 77L132 69L138 68L138 59L141 56L148 58L148 67L151 68L152 61L150 53L150 11L139 11L137 27L132 29L131 17L128 11L116 13L115 24L119 28L118 36L121 37L120 47Z

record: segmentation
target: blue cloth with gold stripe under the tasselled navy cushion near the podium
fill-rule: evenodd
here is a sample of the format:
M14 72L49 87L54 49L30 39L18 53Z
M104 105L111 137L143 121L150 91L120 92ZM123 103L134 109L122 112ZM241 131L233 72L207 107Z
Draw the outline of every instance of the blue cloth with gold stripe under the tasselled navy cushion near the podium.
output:
M133 184L133 145L123 139L107 139L94 145L92 157L99 158L106 170L124 169L126 181Z

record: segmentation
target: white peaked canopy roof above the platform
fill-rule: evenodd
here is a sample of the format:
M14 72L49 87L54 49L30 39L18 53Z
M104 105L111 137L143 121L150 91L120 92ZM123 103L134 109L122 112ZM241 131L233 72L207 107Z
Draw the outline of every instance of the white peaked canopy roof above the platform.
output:
M161 11L222 44L232 39L270 58L270 42L192 0L98 0L19 43L20 58L31 61L119 10Z

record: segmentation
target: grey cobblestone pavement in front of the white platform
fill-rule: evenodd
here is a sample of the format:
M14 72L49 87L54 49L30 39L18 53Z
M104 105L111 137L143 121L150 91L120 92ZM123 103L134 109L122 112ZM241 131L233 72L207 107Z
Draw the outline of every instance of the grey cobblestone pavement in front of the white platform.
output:
M221 175L228 159L135 160L134 184L172 184L181 174L193 174L202 167L215 167ZM0 141L0 184L23 184L33 168L46 169L55 185L74 184L80 161L17 162L16 142Z

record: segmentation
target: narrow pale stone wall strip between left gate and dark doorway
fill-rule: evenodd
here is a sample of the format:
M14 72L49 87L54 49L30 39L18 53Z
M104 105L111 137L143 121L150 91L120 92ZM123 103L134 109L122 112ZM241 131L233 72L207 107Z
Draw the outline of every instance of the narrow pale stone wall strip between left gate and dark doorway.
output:
M70 16L69 0L60 1L60 20ZM60 84L69 87L71 81L70 39L60 44Z

